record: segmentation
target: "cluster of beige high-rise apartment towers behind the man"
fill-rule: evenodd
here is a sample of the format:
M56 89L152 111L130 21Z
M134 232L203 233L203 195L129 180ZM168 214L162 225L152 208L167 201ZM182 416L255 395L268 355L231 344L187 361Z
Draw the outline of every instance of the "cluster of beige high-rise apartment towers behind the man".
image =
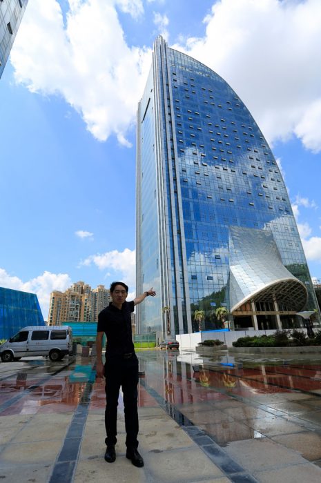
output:
M95 322L110 300L110 290L104 285L92 290L90 285L76 282L65 292L54 290L50 294L48 324Z

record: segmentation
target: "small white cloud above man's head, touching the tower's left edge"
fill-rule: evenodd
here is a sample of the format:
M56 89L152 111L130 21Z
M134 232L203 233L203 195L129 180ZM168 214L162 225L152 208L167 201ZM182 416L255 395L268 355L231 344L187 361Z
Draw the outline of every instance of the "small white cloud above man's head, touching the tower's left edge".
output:
M102 254L90 255L90 257L80 263L80 266L90 266L92 264L96 265L99 270L113 270L115 279L123 279L128 286L135 287L135 250L125 248L123 252L112 250Z

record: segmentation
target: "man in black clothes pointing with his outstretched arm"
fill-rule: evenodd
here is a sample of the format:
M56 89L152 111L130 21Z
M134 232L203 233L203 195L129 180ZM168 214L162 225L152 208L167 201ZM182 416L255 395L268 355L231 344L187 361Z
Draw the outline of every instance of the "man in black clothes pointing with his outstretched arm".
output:
M97 324L97 377L106 377L106 453L105 460L113 463L116 460L115 444L117 442L117 406L119 388L124 395L124 413L126 428L126 457L134 466L141 468L144 460L138 453L138 413L137 384L138 359L135 354L131 317L134 306L143 302L148 295L155 297L153 287L132 302L126 302L128 286L124 282L113 282L110 285L112 302L98 315ZM101 359L102 339L107 337L106 363Z

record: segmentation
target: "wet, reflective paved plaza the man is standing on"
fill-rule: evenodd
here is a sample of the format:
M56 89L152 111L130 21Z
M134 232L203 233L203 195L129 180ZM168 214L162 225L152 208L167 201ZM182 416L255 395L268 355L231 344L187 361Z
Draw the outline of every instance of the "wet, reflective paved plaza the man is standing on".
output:
M321 355L257 358L141 351L139 450L104 461L104 384L95 358L0 364L6 483L321 481Z

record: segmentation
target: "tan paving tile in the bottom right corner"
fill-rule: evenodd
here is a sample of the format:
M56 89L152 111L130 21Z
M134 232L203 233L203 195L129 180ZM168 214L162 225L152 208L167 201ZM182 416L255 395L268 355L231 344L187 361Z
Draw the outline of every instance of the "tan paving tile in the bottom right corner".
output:
M253 473L260 483L320 483L321 468L314 464L295 464L285 468Z

